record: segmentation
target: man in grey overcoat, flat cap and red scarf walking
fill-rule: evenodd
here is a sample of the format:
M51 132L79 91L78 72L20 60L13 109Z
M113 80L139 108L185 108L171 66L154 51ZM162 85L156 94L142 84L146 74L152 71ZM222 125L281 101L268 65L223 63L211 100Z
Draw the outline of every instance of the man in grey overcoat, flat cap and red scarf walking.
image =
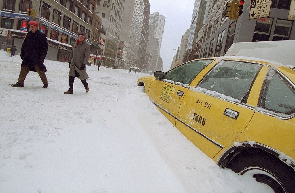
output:
M90 56L90 44L86 42L85 33L78 32L78 39L75 41L69 57L69 86L68 91L64 94L73 94L75 77L81 80L85 87L85 92L89 91L89 85L86 79L89 78L86 72L86 64Z

